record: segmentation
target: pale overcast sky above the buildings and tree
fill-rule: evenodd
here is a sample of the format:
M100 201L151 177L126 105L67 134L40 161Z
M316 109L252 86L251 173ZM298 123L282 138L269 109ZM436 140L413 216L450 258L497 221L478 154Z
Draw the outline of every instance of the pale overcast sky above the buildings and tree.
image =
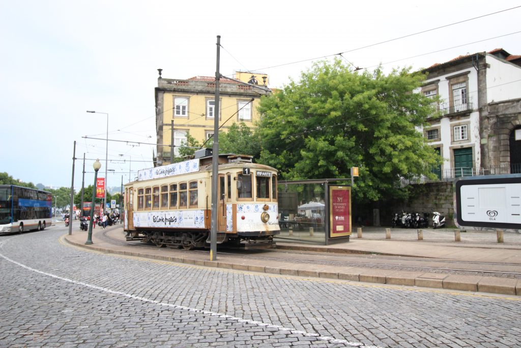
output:
M109 187L152 167L155 147L143 143L156 141L157 69L164 78L215 76L217 35L221 74L257 70L277 88L313 59L341 52L344 62L368 69L382 63L386 71L501 47L521 54L521 8L451 25L516 6L521 2L0 0L0 172L70 187L76 141L74 186L81 187L83 153L85 186L94 181L92 159L100 158L105 176L105 140L82 137L105 139L107 116L86 110L109 114L109 139L141 142L108 142Z

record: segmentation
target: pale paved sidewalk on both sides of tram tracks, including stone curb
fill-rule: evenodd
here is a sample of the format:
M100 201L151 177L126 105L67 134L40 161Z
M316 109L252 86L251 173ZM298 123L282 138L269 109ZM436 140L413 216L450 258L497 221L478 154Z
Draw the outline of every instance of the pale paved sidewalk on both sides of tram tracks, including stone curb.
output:
M111 238L116 238L121 242L126 241L121 227L112 226L108 228L108 234ZM93 245L84 244L87 237L87 232L84 231L75 231L72 235L65 235L65 239L70 244L103 253L181 262L197 266L521 296L521 279L330 266L301 263L297 260L291 262L290 260L264 259L261 264L259 259L227 254L218 254L216 261L209 261L207 253L186 252L179 249L157 248L153 246L141 247L124 243L121 243L121 245L112 244L97 236L97 233L101 233L100 231L94 231L92 236ZM521 234L505 234L504 243L498 243L495 232L490 231L461 233L461 242L454 241L453 230L424 230L423 232L423 241L417 240L416 230L401 229L393 229L391 231L391 239L386 239L384 227L365 227L362 238L357 238L357 233L355 232L351 236L351 241L346 243L312 245L283 239L277 239L276 243L278 249L417 257L418 260L414 262L418 266L423 265L421 258L460 262L508 263L512 272L521 272ZM308 257L309 255L306 255L306 258ZM494 265L480 264L477 267L482 271L494 270Z

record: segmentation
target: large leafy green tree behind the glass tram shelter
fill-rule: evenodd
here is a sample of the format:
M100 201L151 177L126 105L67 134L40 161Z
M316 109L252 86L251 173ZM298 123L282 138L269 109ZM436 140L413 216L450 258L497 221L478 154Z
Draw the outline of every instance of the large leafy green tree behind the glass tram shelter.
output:
M349 178L359 167L359 201L399 196L401 177L429 175L440 161L417 129L434 112L432 100L413 93L424 79L408 68L384 75L316 63L261 100L260 161L286 179Z

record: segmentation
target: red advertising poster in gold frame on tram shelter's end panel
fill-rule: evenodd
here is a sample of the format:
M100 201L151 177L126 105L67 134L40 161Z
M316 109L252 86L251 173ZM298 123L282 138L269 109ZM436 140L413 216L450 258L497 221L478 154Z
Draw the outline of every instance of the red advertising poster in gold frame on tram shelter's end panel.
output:
M351 235L351 187L329 186L329 237Z

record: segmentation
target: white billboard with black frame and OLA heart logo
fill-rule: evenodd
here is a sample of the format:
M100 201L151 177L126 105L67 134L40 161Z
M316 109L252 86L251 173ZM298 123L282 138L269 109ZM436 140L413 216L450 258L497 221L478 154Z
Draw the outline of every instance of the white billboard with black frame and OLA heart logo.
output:
M461 178L455 192L458 225L521 229L521 175Z

